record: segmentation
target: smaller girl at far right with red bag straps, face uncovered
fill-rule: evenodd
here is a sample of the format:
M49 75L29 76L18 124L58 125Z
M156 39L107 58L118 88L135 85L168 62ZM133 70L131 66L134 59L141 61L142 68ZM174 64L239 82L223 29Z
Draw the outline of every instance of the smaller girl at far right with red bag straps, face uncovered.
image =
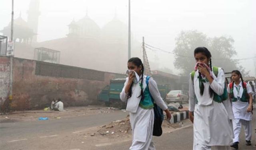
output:
M246 84L243 81L240 71L233 70L231 77L232 82L228 85L228 93L232 100L234 112L234 139L231 147L238 149L239 134L242 126L244 127L246 145L252 145L252 88L250 84Z

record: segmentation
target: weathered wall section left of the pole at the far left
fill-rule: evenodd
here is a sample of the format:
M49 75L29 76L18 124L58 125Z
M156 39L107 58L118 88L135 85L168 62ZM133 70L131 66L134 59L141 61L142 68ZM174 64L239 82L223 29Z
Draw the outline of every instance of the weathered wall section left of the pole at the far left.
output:
M0 56L0 109L8 107L8 95L10 84L10 58Z

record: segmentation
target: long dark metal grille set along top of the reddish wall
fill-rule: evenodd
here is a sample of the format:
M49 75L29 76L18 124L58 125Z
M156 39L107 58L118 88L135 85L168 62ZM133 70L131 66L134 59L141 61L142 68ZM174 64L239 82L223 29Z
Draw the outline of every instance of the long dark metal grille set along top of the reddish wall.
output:
M40 61L36 62L35 74L40 76L104 81L104 72L102 71Z

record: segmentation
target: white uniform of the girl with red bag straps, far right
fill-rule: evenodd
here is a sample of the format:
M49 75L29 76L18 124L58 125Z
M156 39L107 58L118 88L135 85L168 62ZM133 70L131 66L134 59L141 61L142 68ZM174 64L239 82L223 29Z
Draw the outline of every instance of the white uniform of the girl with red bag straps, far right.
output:
M238 90L236 90L236 88ZM230 93L230 84L228 84L228 93ZM250 84L246 85L247 93L252 93L252 88ZM237 86L236 84L233 85L233 93L234 97L237 98L237 96L242 97L242 94L244 92L244 89L242 87L242 81ZM233 128L234 128L234 139L233 142L239 142L239 134L241 131L241 127L244 127L244 133L245 133L245 139L251 140L252 138L252 113L247 112L247 108L249 106L248 102L242 102L240 100L232 102L232 109L234 113L234 120L233 120Z

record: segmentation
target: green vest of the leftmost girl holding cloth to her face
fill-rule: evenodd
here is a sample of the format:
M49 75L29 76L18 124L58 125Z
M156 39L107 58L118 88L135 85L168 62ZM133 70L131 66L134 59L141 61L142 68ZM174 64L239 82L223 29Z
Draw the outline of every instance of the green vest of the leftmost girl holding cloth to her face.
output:
M154 107L154 99L151 96L150 92L149 92L149 88L148 88L148 80L150 79L150 76L146 77L146 88L143 92L144 95L144 99L140 99L140 103L139 106L143 109L150 109Z

